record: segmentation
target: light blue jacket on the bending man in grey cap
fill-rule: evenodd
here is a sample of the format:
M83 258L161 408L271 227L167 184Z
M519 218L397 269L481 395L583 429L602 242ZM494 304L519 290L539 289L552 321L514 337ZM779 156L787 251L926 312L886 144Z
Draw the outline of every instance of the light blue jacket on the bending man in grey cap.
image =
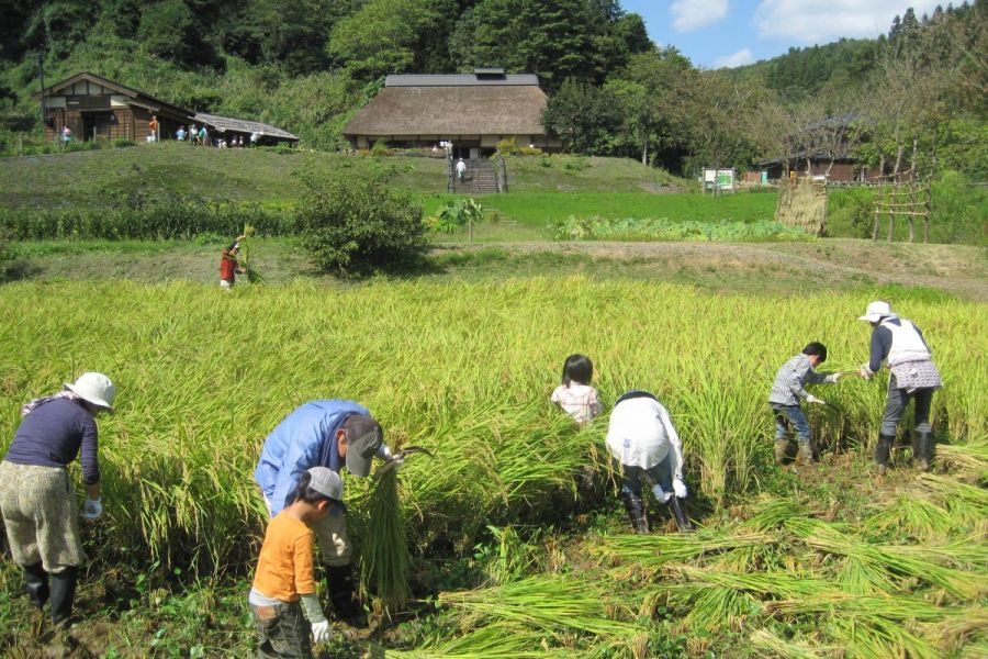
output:
M261 448L254 480L271 503L271 516L295 499L302 472L328 467L339 473L336 431L350 414L370 414L352 401L311 401L278 424Z

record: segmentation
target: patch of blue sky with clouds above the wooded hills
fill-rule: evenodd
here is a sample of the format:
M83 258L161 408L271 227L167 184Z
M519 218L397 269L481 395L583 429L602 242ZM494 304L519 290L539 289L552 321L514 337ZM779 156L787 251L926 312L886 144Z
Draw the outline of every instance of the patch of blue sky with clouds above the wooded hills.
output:
M704 68L740 66L781 55L790 46L828 44L842 36L887 33L896 14L917 18L945 0L621 0L641 14L649 36L676 46ZM959 1L955 4L959 4Z

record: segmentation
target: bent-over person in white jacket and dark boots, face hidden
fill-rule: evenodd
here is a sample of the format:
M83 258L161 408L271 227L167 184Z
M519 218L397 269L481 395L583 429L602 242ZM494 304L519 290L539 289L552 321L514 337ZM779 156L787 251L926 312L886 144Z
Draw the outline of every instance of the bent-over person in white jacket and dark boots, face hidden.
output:
M607 449L621 472L621 499L635 533L649 533L641 499L642 479L648 477L652 494L669 504L681 532L693 530L686 517L686 483L683 481L683 449L669 411L648 391L621 395L610 413Z

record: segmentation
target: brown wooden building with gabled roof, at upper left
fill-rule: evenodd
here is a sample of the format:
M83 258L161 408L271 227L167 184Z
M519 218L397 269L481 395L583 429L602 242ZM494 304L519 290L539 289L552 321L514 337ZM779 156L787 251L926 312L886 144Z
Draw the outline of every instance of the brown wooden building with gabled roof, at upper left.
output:
M175 135L191 118L188 110L85 71L45 88L45 136L50 139L68 126L74 139L143 142L153 115L162 138Z

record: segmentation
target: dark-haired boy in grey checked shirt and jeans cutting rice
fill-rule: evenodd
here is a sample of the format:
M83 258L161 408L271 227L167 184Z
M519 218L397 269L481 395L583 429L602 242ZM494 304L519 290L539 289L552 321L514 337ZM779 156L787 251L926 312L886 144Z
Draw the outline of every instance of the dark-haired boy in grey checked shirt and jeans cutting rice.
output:
M800 401L826 405L823 399L819 399L806 390L807 384L820 384L823 382L837 382L843 373L820 373L815 369L827 361L827 346L819 342L811 342L796 355L786 361L775 373L772 391L768 393L768 405L775 416L775 463L784 465L789 451L789 426L796 428L796 443L799 445L799 459L805 465L815 465L813 445L810 437L809 422Z

